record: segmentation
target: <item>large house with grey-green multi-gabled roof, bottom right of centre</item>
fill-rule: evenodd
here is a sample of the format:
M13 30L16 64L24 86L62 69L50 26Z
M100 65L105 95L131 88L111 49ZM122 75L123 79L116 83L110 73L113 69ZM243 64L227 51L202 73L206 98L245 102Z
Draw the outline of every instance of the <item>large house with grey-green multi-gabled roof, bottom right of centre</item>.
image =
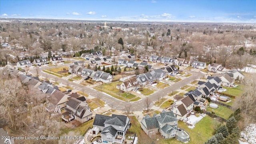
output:
M140 121L140 127L150 138L154 138L158 132L166 139L174 138L178 132L178 119L175 118L172 111L163 111L160 114L154 114L152 117L146 115Z

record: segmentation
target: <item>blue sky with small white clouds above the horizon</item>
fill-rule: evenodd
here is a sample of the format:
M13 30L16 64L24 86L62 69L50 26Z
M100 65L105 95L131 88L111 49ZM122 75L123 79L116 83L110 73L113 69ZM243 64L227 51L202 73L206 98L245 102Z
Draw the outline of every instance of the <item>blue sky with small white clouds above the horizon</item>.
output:
M0 0L0 17L256 23L256 0Z

